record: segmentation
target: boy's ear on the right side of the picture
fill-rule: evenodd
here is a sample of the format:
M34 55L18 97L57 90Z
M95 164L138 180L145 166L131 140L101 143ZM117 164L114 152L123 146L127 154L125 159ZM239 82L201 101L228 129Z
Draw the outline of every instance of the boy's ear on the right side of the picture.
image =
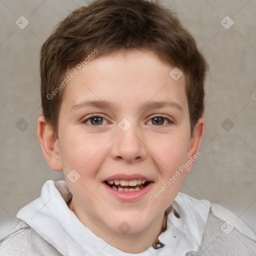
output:
M187 153L187 162L189 163L189 167L186 168L185 173L188 173L193 166L195 159L201 154L199 151L202 137L204 134L205 121L203 117L200 117L194 126L193 133L190 136L189 148Z

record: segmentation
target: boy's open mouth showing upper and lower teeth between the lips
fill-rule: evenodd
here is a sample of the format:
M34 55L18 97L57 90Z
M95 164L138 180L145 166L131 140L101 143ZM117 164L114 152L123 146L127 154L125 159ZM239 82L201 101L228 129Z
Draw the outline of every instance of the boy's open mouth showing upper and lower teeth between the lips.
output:
M145 186L147 186L152 181L146 181L145 179L132 179L132 180L123 180L123 179L110 179L104 180L104 183L110 186L112 189L120 192L131 192L138 191Z

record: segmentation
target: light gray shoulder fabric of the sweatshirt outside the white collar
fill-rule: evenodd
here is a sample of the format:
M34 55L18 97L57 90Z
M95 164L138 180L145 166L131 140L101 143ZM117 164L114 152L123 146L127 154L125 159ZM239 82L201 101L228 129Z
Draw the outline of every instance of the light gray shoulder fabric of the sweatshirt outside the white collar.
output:
M20 221L19 218L14 218L0 226L0 256L62 256L34 229L29 227L24 230L24 233L19 233L16 226ZM197 252L189 251L185 255L256 255L256 242L241 234L236 229L233 229L229 234L224 233L220 228L223 223L224 221L213 216L211 211L209 211L199 249ZM6 238L6 236L9 237ZM2 241L2 239L4 240ZM155 252L155 255L157 255L157 250Z

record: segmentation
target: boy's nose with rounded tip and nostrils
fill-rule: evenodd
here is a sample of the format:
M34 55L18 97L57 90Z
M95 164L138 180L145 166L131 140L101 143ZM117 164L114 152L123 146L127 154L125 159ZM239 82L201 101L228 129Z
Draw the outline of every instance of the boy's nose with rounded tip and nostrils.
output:
M135 125L131 125L126 131L117 127L117 134L112 142L111 156L114 160L138 162L146 157L143 136Z

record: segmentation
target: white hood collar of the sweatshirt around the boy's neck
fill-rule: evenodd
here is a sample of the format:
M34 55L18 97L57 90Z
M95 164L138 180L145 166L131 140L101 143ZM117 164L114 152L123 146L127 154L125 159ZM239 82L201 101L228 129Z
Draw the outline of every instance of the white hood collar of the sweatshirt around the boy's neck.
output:
M164 246L159 249L150 246L141 253L131 254L110 246L84 226L67 206L71 196L64 180L47 180L41 196L22 207L16 215L62 255L185 255L198 249L210 208L209 201L179 192L167 215L167 228L158 236Z

